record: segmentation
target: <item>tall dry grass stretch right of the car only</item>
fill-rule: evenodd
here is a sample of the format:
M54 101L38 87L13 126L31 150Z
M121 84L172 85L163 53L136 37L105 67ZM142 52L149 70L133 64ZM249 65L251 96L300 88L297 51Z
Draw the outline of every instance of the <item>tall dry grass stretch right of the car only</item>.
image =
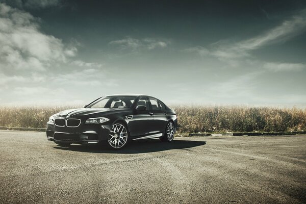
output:
M175 106L180 132L282 132L306 130L298 108Z

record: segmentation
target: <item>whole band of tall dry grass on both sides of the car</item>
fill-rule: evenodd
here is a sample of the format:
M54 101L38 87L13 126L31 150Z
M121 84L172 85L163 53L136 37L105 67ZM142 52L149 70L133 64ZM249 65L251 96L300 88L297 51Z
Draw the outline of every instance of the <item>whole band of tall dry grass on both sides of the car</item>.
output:
M74 107L0 107L0 126L46 126L49 116ZM306 130L306 110L298 108L173 106L180 132L281 132Z

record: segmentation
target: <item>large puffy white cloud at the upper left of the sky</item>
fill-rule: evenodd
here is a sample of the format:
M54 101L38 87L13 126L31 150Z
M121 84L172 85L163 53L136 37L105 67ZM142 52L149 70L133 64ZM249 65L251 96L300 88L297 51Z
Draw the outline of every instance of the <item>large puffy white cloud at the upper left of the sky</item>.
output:
M1 67L44 71L51 62L65 62L77 52L77 48L39 29L39 19L0 3Z

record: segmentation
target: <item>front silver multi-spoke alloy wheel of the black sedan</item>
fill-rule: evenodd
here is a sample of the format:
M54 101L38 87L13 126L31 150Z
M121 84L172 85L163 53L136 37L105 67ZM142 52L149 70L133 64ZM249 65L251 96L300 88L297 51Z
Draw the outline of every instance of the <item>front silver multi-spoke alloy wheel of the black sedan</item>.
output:
M123 147L126 141L127 141L127 131L124 125L120 123L113 124L108 139L109 144L112 147L118 149Z

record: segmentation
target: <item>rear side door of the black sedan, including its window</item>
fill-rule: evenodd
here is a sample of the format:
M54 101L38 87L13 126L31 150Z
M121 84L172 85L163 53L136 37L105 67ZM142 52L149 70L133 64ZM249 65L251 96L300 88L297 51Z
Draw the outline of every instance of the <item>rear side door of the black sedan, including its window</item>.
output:
M150 113L154 115L153 131L156 133L163 133L167 123L167 113L165 112L165 106L157 99L149 97Z

